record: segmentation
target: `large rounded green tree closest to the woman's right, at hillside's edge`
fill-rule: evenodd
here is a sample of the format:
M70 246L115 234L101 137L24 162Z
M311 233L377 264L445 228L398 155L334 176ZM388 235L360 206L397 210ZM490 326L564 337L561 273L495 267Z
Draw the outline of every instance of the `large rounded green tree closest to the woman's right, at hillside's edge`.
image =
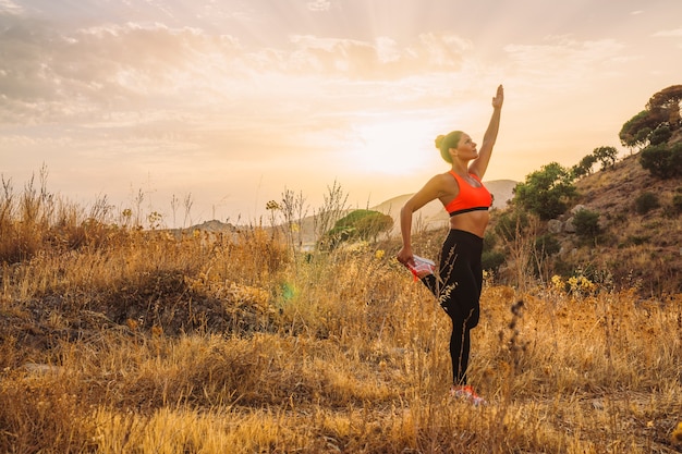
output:
M546 221L563 213L576 195L571 172L551 162L514 187L513 201Z

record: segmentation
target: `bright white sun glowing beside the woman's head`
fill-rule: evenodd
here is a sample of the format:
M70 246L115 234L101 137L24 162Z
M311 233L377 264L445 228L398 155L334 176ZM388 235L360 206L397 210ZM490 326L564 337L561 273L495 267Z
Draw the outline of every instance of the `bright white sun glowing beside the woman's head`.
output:
M356 173L406 175L433 165L433 124L404 118L366 119L354 127L350 148Z

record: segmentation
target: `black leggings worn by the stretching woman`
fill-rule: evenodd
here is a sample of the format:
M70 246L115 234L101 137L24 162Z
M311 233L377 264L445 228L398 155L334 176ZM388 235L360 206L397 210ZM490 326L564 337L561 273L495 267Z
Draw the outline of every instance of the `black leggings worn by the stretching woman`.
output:
M478 324L480 316L482 253L482 237L462 230L450 230L440 250L438 278L429 274L422 279L452 320L450 357L454 384L466 383L470 331Z

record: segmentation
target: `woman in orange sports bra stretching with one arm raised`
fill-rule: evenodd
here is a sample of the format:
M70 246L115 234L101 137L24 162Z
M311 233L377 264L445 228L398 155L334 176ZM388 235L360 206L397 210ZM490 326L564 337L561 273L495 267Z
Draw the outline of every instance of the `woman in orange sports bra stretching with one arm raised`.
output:
M450 394L468 398L476 405L485 401L467 384L466 369L470 331L478 324L483 285L480 255L489 219L488 208L492 204L492 196L482 180L497 139L503 101L504 90L500 85L492 98L492 116L479 150L472 138L461 131L436 138L436 147L452 168L430 179L400 211L403 247L398 253L398 260L409 268L415 267L411 244L412 214L434 199L439 199L450 214L450 232L440 251L438 275L426 271L419 272L418 278L438 297L452 319L450 356L453 383Z

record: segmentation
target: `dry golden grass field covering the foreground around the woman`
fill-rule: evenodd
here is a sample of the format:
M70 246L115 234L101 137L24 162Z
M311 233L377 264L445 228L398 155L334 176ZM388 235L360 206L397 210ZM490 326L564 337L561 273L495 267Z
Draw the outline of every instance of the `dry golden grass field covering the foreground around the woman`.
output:
M682 452L680 294L489 278L473 407L397 243L300 254L259 226L176 238L12 204L0 452Z

